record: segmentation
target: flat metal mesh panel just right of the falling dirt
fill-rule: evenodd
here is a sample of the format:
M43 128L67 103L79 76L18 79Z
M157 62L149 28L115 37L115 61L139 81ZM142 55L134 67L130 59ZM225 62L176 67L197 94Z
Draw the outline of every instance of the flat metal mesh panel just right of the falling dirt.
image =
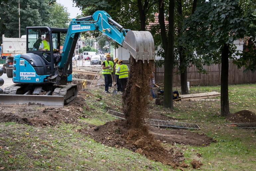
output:
M186 122L174 122L174 121L162 121L145 119L147 125L152 125L155 127L172 127L172 128L186 128L186 129L200 129L197 124L186 123Z

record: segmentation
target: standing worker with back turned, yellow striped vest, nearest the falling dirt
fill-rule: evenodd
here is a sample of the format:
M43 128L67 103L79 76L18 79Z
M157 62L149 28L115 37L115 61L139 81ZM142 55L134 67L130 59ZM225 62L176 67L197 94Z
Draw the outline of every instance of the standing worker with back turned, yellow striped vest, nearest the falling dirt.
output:
M123 63L123 60L119 60L118 64L119 67L117 68L117 73L119 73L119 79L122 89L122 92L120 94L123 94L128 80L129 68Z

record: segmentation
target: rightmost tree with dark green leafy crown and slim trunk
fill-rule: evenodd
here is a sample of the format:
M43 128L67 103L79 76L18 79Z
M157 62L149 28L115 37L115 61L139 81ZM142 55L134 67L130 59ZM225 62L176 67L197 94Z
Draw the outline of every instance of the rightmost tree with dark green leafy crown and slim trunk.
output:
M234 59L234 40L255 37L252 13L245 14L239 0L200 0L186 24L187 39L204 60L221 62L221 116L229 115L228 59Z

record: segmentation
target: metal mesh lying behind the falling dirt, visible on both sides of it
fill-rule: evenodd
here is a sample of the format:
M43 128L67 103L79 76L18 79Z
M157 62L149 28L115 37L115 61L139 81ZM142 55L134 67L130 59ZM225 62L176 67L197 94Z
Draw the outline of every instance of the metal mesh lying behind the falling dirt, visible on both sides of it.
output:
M107 111L111 116L125 119L124 114L112 110ZM154 127L173 127L173 128L187 128L187 129L200 129L197 124L185 123L185 122L174 122L174 121L162 121L162 120L153 120L153 119L145 119L147 125L151 125Z

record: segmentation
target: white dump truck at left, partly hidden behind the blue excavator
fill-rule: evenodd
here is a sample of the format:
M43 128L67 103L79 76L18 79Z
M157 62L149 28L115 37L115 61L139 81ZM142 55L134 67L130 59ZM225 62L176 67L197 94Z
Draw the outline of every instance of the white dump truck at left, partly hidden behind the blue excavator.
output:
M2 55L6 56L6 63L3 68L6 71L8 78L12 78L13 58L15 54L26 53L26 35L22 35L21 38L3 38Z

